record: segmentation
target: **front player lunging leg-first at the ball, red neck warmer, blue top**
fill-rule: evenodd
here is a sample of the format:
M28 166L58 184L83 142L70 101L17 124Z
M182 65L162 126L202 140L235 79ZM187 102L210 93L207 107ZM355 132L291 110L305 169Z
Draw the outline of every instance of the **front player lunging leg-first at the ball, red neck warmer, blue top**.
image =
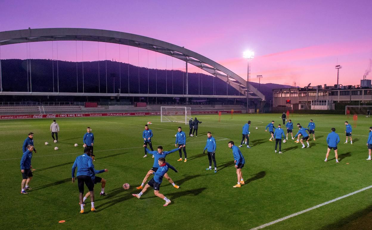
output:
M159 192L159 190L160 190L160 184L163 181L163 177L167 173L168 169L170 167L173 168L173 166L171 166L170 164L166 163L165 158L159 158L158 159L158 165L159 165L158 166L158 170L156 172L153 172L153 174L154 174L153 179L151 179L145 185L145 188L143 188L140 193L138 193L138 194L132 194L132 195L135 196L135 197L137 197L138 199L140 199L141 196L143 195L143 193L145 193L148 188L153 187L154 188L154 194L155 194L155 196L160 197L161 199L163 199L165 201L165 204L163 205L165 207L165 206L167 206L167 205L170 204L170 199L166 198L166 196L164 196L163 194L161 194ZM173 168L173 169L176 170L175 168Z

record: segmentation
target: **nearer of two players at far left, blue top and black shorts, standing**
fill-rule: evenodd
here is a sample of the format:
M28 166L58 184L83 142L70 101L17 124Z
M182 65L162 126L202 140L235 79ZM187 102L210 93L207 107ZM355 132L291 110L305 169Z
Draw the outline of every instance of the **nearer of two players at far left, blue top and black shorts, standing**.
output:
M28 186L32 179L32 165L31 165L31 158L32 158L32 151L33 151L33 145L28 145L27 150L23 152L21 161L20 161L20 167L21 167L21 173L22 173L22 183L21 183L21 194L28 194L25 190L31 190Z

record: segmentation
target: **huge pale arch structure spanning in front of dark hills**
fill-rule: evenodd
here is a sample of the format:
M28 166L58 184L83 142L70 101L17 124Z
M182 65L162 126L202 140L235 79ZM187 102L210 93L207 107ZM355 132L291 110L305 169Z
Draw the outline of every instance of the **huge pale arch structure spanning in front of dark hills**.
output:
M184 47L174 45L154 38L144 37L125 32L109 31L103 29L83 28L44 28L22 29L0 32L0 46L24 42L38 41L98 41L139 47L186 62L186 84L184 94L132 94L132 93L87 93L87 92L6 92L1 87L0 68L0 95L71 95L71 96L123 96L123 97L214 97L214 98L247 98L265 100L264 95L243 78L226 67L195 53ZM0 47L1 48L1 47ZM190 95L187 86L187 63L190 63L211 75L223 80L227 85L237 89L241 95ZM0 59L1 67L1 59ZM247 87L249 86L249 87Z

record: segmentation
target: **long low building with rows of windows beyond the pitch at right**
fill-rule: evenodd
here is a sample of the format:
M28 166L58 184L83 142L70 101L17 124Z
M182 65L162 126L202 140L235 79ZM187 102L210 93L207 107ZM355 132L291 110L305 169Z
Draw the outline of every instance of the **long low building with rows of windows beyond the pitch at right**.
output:
M363 81L363 82L362 82ZM365 84L364 81L369 81ZM372 103L371 80L361 80L361 85L309 86L304 88L273 89L273 109L330 110L335 102Z

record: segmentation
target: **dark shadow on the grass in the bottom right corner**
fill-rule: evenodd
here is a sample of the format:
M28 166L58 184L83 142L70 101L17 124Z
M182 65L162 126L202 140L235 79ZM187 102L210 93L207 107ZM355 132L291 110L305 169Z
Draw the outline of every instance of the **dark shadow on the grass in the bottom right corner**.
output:
M372 205L354 212L353 214L344 217L339 220L335 220L334 223L328 224L327 226L322 227L320 230L333 230L333 229L340 229L340 230L364 230L364 229L371 229L371 225L369 224L371 221L372 215Z

